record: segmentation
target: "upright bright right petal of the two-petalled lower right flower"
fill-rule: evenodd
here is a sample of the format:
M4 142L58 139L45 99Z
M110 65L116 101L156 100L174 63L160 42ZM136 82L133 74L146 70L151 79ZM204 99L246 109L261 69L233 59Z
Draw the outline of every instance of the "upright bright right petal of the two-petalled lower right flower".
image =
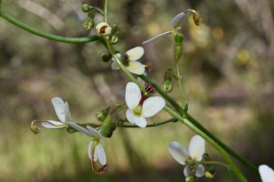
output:
M201 136L195 135L192 137L189 143L189 155L191 159L200 161L205 151L205 141Z

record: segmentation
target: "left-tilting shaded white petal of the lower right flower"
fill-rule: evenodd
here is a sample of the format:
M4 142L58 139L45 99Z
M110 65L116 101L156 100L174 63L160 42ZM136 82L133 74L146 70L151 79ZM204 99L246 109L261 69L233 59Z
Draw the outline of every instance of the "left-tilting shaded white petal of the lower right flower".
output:
M179 142L171 142L168 145L168 151L172 157L182 165L186 164L186 159L188 159L188 152L184 146Z

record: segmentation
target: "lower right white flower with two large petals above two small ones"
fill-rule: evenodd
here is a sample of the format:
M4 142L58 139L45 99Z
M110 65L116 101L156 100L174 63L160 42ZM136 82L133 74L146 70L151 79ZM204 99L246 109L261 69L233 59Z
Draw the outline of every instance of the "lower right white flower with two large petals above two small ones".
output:
M194 161L201 161L205 151L205 141L201 136L194 135L189 143L188 151L179 142L171 142L168 145L168 151L172 157L182 165L186 165L186 160L191 158ZM191 174L191 169L188 165L184 168L184 174L188 177ZM204 175L204 167L199 164L195 170L196 177Z

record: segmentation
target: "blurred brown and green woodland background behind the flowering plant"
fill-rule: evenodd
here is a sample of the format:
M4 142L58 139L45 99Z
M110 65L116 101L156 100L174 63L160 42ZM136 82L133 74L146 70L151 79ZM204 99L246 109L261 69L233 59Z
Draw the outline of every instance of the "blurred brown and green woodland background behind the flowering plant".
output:
M82 1L3 0L2 9L42 31L68 37L94 34L82 21ZM103 1L85 1L102 7ZM191 17L185 35L181 68L189 113L225 144L257 166L274 167L274 2L268 0L120 0L110 1L109 19L121 25L121 52L168 31L170 20L188 8L200 12L197 27ZM96 22L102 18L95 17ZM188 148L194 133L181 123L134 129L118 128L106 139L110 170L91 172L87 156L90 138L64 129L29 130L35 119L57 119L51 98L70 104L72 120L97 123L94 114L110 102L124 103L128 79L100 59L99 42L69 44L32 35L0 18L0 181L184 181L183 166L167 151L172 141ZM174 68L173 41L164 37L144 45L143 63L159 85ZM178 87L170 96L180 102ZM124 117L124 111L120 113ZM169 119L161 111L150 123ZM214 160L220 155L207 145ZM238 164L238 163L237 163ZM259 181L239 164L249 181ZM210 181L202 177L199 181ZM213 181L236 181L217 167Z

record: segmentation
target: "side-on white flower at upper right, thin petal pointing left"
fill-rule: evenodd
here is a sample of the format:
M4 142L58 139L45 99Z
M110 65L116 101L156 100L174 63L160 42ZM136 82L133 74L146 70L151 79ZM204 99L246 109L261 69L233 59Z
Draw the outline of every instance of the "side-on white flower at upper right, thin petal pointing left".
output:
M170 28L171 28L171 31L167 31L167 32L164 32L160 35L157 35L151 39L148 39L146 41L144 41L142 44L147 44L147 43L150 43L152 42L153 40L156 40L160 37L164 37L164 36L167 36L167 35L170 35L172 34L172 31L174 31L174 29L176 30L179 30L181 29L180 24L182 23L182 21L188 16L189 12L188 10L186 12L183 12L183 13L179 13L178 15L176 15L172 21L170 21Z

